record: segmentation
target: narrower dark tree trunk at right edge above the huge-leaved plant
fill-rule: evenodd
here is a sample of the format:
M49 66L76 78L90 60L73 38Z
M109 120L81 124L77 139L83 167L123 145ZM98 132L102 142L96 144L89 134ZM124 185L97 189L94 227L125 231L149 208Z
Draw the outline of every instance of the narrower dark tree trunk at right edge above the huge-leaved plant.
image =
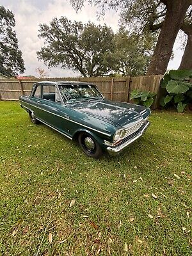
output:
M184 24L181 29L188 35L188 42L178 69L192 70L192 24Z

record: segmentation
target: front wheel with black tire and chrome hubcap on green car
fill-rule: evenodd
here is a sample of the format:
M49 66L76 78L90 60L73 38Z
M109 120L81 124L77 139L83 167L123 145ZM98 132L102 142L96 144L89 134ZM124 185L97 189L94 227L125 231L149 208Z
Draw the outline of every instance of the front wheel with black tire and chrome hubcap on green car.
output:
M79 141L79 145L83 149L83 152L87 156L90 156L96 159L102 156L102 149L100 148L97 141L95 141L93 136L91 136L90 134L86 132L81 132L79 134L78 141Z

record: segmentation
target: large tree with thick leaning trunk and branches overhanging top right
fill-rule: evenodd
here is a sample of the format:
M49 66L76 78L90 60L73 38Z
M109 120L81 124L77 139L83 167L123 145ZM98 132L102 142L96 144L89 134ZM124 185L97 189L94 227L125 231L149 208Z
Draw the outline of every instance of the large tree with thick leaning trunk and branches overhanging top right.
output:
M82 8L82 1L80 5L77 0L71 0L71 3L76 9ZM140 30L146 26L154 31L161 28L147 74L164 74L175 38L192 0L90 0L90 3L101 6L102 10L106 7L121 8L122 13L127 13L127 20L138 23Z

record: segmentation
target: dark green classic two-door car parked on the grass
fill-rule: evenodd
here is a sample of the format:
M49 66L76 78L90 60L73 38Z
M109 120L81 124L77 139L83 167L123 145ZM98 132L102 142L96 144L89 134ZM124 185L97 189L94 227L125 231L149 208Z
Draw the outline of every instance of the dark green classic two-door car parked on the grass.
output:
M150 124L149 108L106 100L91 83L38 82L31 95L20 96L19 100L33 124L42 122L79 141L84 153L94 158L103 151L113 156L120 153Z

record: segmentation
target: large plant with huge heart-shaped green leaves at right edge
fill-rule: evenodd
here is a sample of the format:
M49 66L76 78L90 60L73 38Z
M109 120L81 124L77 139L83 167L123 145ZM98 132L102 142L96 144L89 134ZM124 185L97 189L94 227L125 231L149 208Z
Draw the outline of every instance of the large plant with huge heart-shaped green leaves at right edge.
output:
M161 88L164 96L160 99L161 106L173 105L179 113L192 102L192 70L170 70L163 77Z

